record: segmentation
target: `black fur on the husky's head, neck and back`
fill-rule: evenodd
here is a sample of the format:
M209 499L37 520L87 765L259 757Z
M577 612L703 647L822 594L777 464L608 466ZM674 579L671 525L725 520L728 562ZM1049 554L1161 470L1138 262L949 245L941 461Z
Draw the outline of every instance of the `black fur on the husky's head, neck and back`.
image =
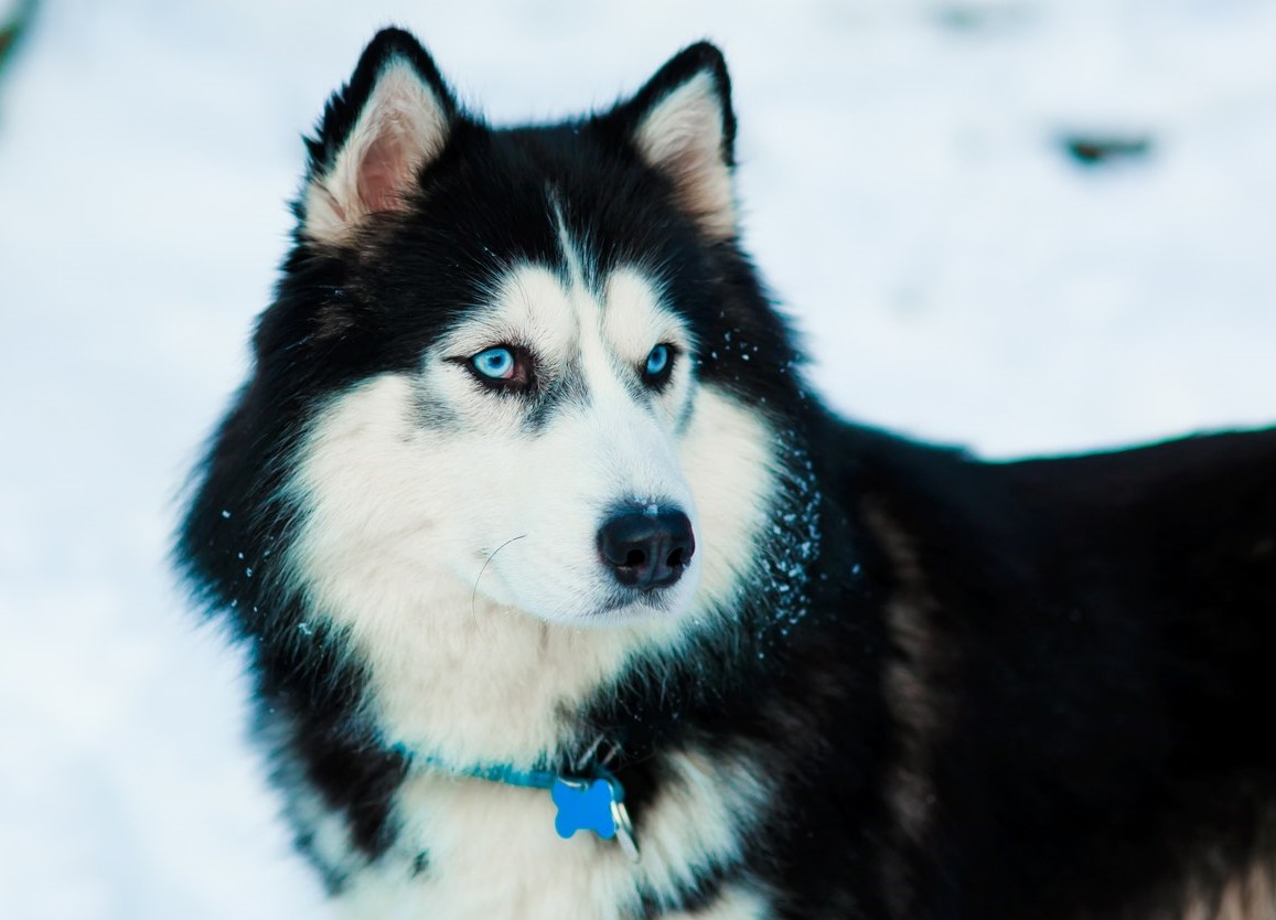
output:
M805 389L738 241L706 240L632 143L652 105L709 73L734 162L716 48L685 50L609 112L498 131L387 31L329 103L311 179L393 55L443 101L447 144L408 213L350 245L297 235L176 549L251 649L286 794L316 790L375 857L407 768L360 707L364 665L276 565L302 513L279 486L306 421L411 367L494 269L565 273L545 219L558 205L600 276L637 260L661 277L701 343L695 374L782 433L792 485L771 537L782 561L730 611L736 630L660 662L658 685L656 669L616 675L577 713L620 749L639 842L669 752L746 757L781 790L739 860L701 866L678 903L652 894L646 916L712 905L740 878L795 920L1171 917L1189 897L1208 916L1248 868L1270 878L1276 430L983 463L849 425ZM347 868L320 868L341 889ZM426 854L415 870L433 870Z

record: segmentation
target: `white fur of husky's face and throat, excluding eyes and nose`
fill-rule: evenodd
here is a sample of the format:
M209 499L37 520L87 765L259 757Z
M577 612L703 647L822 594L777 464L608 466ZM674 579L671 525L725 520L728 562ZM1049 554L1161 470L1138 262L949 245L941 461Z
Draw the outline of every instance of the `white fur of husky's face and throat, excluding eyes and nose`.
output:
M685 430L635 401L616 366L637 380L634 356L652 342L621 346L605 329L612 310L642 306L619 293L641 287L619 277L607 291L600 319L596 302L574 306L553 273L521 269L498 308L441 343L420 374L373 378L311 426L288 486L304 509L290 581L316 616L348 630L390 740L457 763L533 762L572 740L561 738L564 707L641 649L712 629L757 564L777 487L775 434L732 397L694 385L689 366L675 367L667 396L690 402ZM646 297L661 318L655 293ZM592 328L565 322L584 306ZM689 347L676 319L664 322L648 336ZM586 365L587 407L563 407L530 431L518 398L485 392L443 360L514 325L560 365ZM447 406L448 424L422 427L422 401ZM666 592L667 609L605 616L611 575L596 535L605 509L625 499L676 503L692 517L695 570Z

